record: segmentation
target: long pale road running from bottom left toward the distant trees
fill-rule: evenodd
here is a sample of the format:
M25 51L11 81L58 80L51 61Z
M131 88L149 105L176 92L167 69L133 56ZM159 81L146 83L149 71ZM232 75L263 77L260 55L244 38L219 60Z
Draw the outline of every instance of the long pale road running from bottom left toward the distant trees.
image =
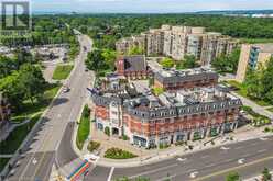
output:
M62 150L62 157L58 157L59 163L65 163L67 159L76 157L74 152L64 151L65 144L61 140L72 140L72 127L78 115L83 104L87 98L86 88L91 80L90 72L85 72L84 60L87 53L83 50L86 46L91 49L91 41L85 36L78 36L81 52L76 60L75 70L66 84L72 89L68 93L61 93L48 108L42 125L31 140L29 149L19 160L19 166L12 170L14 172L8 178L10 181L18 180L48 180L51 169L56 160L57 150ZM67 145L70 145L66 143ZM59 147L62 146L62 147Z

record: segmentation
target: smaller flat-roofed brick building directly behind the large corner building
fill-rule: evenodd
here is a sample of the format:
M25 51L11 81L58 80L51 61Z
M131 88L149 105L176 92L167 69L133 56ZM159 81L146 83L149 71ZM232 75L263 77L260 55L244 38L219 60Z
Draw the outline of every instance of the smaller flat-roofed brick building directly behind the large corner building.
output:
M154 73L154 87L163 88L166 91L215 87L217 83L218 75L208 68L187 70L162 69Z

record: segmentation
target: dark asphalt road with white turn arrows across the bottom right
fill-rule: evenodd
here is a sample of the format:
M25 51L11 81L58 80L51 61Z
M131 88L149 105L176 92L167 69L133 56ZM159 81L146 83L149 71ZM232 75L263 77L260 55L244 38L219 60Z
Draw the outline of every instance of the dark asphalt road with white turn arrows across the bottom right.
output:
M248 179L261 173L264 167L273 169L272 150L273 137L252 139L138 168L96 167L86 180L108 181L125 176L130 179L150 178L151 181L222 181L231 171Z

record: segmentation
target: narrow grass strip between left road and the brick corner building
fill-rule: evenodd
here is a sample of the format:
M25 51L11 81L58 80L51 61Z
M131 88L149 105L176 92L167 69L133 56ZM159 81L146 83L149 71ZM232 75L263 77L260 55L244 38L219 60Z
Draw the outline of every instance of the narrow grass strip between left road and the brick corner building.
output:
M80 117L76 144L78 149L83 149L85 140L88 138L90 132L90 112L89 108L86 105Z

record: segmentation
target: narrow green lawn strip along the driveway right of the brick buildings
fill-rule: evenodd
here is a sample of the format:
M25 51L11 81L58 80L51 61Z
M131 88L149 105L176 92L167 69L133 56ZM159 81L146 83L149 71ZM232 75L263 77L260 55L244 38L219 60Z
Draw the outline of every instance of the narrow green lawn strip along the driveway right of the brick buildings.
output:
M236 91L238 94L244 97L244 98L248 98L250 99L251 101L255 102L256 104L261 105L261 106L269 106L271 105L269 102L265 102L263 100L256 100L256 99L253 99L253 98L250 98L248 95L248 91L247 91L247 87L234 81L234 80L230 80L230 81L226 81L228 84L237 88L238 90Z

